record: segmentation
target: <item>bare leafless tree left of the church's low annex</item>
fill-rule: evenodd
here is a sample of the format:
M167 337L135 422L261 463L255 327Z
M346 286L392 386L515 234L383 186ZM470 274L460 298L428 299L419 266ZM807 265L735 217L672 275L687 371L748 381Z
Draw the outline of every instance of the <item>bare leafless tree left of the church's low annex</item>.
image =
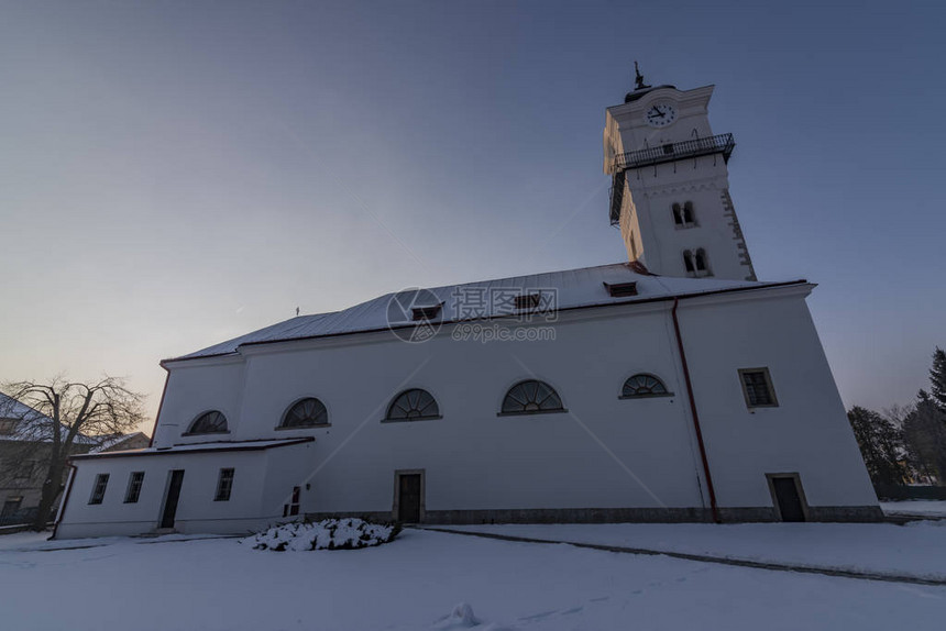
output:
M125 380L105 376L82 384L56 377L50 383L10 381L0 385L10 399L0 402L0 418L16 423L21 442L42 445L45 468L40 508L33 528L42 530L50 521L62 491L68 457L89 438L118 435L144 420L144 396L125 387ZM12 401L11 401L12 400ZM16 405L19 402L19 405Z

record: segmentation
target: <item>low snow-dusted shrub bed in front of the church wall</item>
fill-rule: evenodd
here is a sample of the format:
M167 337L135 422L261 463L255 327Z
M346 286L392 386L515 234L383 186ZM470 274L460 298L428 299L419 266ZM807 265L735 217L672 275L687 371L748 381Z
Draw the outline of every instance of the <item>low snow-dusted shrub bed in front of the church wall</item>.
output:
M400 527L393 523L371 523L363 519L324 519L322 521L293 522L273 527L241 540L254 550L306 551L356 550L394 541Z

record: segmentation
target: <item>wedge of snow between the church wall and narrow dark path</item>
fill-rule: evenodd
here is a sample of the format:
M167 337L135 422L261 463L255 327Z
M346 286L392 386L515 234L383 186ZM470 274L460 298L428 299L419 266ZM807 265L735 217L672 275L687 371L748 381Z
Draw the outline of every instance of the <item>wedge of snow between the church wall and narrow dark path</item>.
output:
M829 569L946 579L946 522L602 523L461 525L529 539L596 543Z

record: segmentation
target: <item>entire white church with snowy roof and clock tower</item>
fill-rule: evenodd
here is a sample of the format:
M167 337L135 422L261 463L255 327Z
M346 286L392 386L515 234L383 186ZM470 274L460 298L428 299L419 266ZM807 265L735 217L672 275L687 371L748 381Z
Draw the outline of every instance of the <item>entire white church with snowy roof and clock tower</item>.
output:
M74 457L55 536L880 519L814 285L756 279L711 95L638 77L607 111L629 262L383 296L166 359L153 444Z

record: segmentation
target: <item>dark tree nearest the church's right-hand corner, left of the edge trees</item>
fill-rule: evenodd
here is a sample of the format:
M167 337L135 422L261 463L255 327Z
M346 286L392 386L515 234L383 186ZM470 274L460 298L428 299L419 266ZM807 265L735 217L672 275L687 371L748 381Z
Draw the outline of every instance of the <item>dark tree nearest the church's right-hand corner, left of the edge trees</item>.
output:
M876 485L903 484L906 469L900 462L900 429L890 419L859 406L848 411L847 420L854 430L871 481Z

